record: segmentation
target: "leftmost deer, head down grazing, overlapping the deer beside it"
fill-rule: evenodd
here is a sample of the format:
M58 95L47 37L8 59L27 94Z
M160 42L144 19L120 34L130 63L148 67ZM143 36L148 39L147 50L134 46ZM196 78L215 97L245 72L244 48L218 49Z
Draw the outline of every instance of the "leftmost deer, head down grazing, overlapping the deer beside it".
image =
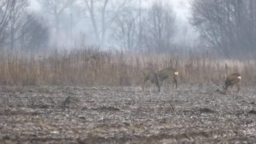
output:
M145 85L145 82L147 80L150 80L151 83L152 83L151 88L150 88L150 92L151 92L151 89L152 89L154 84L158 87L158 91L160 92L160 85L158 83L157 74L152 69L150 69L150 68L143 69L142 70L142 75L143 75L143 84L142 84L142 91L143 92L144 92L144 85Z

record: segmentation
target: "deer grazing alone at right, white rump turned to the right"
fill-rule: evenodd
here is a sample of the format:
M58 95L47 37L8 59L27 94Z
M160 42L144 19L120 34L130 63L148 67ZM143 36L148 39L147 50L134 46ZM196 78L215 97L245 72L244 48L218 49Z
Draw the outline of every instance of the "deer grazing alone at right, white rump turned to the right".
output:
M241 75L238 73L233 73L227 76L227 79L225 80L225 87L224 85L222 85L225 95L227 94L227 88L229 86L231 86L231 93L233 94L232 88L234 84L237 85L237 93L238 93L238 91L240 90L239 83L241 78L242 78Z

